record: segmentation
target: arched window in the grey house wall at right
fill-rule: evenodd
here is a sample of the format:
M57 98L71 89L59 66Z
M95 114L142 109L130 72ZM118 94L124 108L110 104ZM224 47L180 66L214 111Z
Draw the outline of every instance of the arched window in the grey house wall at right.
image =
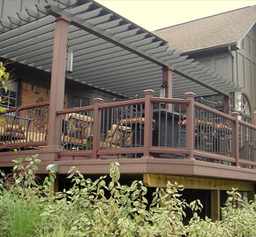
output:
M246 122L252 121L252 111L249 100L243 93L239 93L236 99L236 110L241 112L239 119L245 120Z

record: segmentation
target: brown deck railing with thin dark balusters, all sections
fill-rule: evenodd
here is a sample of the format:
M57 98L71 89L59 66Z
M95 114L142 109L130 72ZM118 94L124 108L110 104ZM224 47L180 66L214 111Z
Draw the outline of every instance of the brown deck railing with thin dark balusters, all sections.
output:
M3 135L1 126L1 149L47 148L48 108L49 103L38 103L2 114L1 118L12 118L7 121L12 134ZM240 121L237 113L228 115L196 103L192 93L185 99L157 98L147 90L140 99L94 99L91 106L56 111L57 117L59 157L194 158L256 166L256 126Z

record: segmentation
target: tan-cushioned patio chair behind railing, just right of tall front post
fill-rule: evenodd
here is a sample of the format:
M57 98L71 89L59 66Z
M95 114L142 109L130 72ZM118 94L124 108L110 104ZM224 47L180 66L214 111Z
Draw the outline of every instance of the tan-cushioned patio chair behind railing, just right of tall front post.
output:
M79 113L66 114L63 121L62 145L75 148L87 145L93 124L94 119L89 116Z

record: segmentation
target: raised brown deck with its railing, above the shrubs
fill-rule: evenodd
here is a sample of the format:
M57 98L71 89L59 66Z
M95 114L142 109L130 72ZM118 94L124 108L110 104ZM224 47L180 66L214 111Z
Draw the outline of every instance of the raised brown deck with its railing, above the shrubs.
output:
M194 101L145 98L115 103L94 99L94 105L50 114L49 103L37 103L1 115L0 166L39 154L39 172L57 164L87 174L120 172L166 174L230 180L256 179L256 126ZM55 124L54 131L49 123ZM13 149L17 149L14 151Z

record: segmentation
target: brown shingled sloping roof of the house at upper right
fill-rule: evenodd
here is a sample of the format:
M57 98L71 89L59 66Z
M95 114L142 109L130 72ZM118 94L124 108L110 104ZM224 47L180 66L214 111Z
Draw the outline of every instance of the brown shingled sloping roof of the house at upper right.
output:
M170 48L189 52L236 44L255 24L256 5L154 31Z

